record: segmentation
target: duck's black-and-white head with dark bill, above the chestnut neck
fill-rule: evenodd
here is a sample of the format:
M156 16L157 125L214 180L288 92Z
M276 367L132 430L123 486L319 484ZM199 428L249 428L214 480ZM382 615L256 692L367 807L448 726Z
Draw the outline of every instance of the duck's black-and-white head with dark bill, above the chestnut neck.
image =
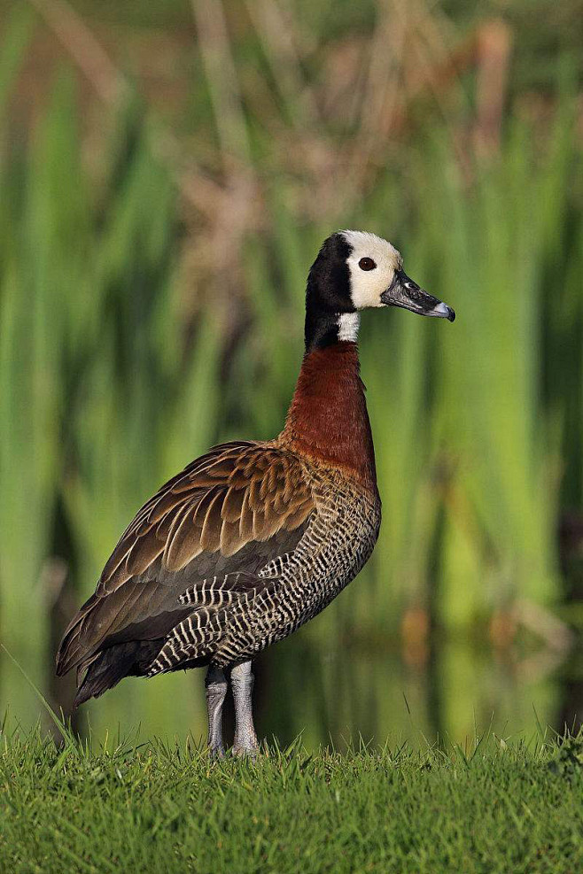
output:
M451 306L433 298L403 270L403 259L380 236L341 230L324 241L307 277L306 349L355 341L360 310L400 306L454 321Z

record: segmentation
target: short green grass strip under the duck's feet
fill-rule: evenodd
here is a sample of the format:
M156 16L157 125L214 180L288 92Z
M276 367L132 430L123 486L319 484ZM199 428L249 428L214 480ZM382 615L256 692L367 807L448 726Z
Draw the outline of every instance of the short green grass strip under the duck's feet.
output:
M583 739L494 736L211 762L35 731L0 754L0 870L439 872L583 868Z

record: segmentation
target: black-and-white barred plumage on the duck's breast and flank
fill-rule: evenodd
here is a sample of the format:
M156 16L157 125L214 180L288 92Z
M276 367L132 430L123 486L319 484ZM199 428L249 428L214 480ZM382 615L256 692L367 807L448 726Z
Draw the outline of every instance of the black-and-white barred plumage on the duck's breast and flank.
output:
M219 667L251 659L314 618L354 579L377 542L380 502L338 477L322 477L315 493L293 553L256 576L215 576L180 596L192 612L170 631L148 676L207 657Z

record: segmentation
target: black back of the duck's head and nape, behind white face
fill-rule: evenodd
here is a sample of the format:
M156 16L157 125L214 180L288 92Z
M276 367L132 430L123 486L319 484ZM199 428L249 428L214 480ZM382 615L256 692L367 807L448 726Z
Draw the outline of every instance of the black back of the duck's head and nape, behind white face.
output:
M306 352L338 343L338 313L355 313L347 259L352 246L340 233L324 241L306 288Z

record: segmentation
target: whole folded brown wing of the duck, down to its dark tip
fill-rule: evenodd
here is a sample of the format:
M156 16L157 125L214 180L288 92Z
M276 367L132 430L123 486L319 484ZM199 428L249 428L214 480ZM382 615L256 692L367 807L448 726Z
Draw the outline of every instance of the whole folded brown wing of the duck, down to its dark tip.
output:
M144 638L176 621L178 596L214 574L250 570L294 547L314 509L292 452L216 446L144 504L105 564L95 595L66 630L58 673L88 661L136 624ZM150 623L150 625L149 625Z

